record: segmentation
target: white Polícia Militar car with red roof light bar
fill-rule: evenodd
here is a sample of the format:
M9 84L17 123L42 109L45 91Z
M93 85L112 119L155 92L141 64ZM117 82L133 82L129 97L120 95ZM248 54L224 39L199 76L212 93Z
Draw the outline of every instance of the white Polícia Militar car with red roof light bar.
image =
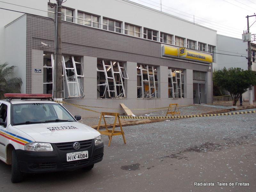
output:
M4 94L0 100L0 159L23 173L92 169L103 158L101 135L77 122L51 94Z

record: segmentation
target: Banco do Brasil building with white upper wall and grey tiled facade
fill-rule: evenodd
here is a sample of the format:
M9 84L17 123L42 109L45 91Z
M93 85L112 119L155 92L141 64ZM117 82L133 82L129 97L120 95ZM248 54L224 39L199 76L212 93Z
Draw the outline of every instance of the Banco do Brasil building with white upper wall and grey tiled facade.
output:
M53 4L3 1L1 62L18 67L23 93L52 93ZM65 102L117 112L123 110L108 108L212 103L212 66L220 57L215 30L127 0L67 0L62 12Z

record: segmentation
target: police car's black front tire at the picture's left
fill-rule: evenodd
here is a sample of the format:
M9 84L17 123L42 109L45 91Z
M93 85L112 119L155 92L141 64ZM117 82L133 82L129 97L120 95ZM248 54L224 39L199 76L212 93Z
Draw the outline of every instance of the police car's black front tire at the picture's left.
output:
M19 161L17 157L16 150L12 150L12 183L19 183L22 181L23 173L20 171Z

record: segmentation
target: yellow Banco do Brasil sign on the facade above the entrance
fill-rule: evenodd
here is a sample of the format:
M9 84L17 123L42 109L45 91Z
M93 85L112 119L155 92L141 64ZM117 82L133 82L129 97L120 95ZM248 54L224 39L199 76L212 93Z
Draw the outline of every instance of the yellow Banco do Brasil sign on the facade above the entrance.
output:
M177 48L177 47L163 46L163 56L178 57L182 59L197 60L201 62L212 63L211 54L205 54L201 52L188 50L184 47Z

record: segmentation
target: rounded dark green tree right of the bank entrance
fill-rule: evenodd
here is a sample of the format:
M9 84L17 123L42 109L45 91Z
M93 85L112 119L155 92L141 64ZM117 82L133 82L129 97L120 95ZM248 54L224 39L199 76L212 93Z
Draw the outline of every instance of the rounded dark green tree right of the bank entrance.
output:
M230 93L233 105L235 106L238 99L247 91L249 86L256 84L256 72L249 70L244 71L241 68L226 69L224 67L216 71L213 82L216 86Z

